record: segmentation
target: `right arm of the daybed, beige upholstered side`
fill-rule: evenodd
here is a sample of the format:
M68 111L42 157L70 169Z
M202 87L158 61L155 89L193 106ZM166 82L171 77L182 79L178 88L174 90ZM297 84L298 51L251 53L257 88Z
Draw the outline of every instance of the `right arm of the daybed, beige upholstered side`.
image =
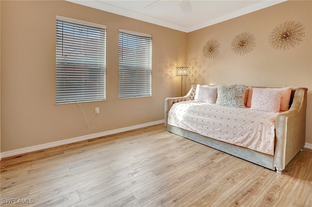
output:
M274 167L277 173L282 173L305 145L307 91L308 88L297 88L290 109L276 117Z

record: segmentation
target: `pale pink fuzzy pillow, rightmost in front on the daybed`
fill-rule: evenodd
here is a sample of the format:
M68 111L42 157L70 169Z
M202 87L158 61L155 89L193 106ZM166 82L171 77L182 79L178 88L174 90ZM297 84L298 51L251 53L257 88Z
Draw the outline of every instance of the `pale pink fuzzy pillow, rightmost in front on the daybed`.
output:
M275 88L254 88L250 109L279 112L283 90Z

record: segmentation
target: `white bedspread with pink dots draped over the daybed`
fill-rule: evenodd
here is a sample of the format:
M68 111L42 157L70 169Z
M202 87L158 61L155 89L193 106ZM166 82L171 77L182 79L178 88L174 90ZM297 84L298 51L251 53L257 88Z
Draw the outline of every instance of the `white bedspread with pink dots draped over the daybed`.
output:
M184 101L171 107L168 124L209 138L274 155L277 114L249 108Z

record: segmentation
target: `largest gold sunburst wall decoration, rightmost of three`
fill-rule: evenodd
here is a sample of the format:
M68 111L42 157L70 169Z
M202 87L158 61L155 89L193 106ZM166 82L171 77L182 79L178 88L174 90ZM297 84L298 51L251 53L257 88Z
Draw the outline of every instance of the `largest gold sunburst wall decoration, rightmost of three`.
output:
M294 48L295 45L298 45L302 41L302 37L304 36L303 29L302 24L293 21L279 24L271 32L269 38L270 45L278 50Z

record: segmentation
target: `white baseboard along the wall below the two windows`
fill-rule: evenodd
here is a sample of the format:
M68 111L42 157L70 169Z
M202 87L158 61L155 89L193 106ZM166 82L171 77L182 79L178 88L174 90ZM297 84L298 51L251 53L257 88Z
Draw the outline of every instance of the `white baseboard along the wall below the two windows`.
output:
M153 122L138 124L138 125L134 125L134 126L114 129L114 130L110 130L110 131L106 131L106 132L99 132L99 133L95 133L95 134L85 135L85 136L81 136L81 137L77 137L77 138L69 138L69 139L54 141L54 142L50 142L50 143L46 143L46 144L39 144L36 146L25 147L25 148L21 148L21 149L17 149L17 150L11 150L11 151L7 151L7 152L3 152L0 154L0 157L4 158L4 157L20 155L20 154L24 154L24 153L30 153L30 152L34 152L37 150L42 150L42 149L46 149L46 148L50 148L50 147L56 147L56 146L60 146L63 144L70 144L73 142L82 141L82 140L91 139L91 138L98 138L98 137L103 137L103 136L107 136L107 135L113 135L113 134L117 134L120 132L126 132L126 131L130 131L133 129L139 129L142 127L152 126L152 125L156 125L156 124L160 124L160 123L164 123L164 122L165 122L165 120L153 121Z

